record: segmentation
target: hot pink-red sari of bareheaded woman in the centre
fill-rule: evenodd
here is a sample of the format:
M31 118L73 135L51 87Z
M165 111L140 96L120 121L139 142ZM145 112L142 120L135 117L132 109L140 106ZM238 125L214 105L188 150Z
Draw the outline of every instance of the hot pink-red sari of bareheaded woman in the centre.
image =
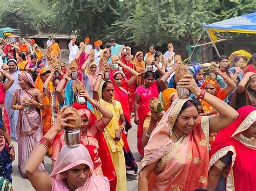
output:
M146 116L151 116L151 109L149 108L149 101L151 98L158 98L158 86L157 82L154 81L153 84L149 88L144 88L143 86L139 86L136 91L136 94L140 96L139 106L138 106L138 118L140 123L137 128L137 149L139 154L143 156L143 148L141 145L142 142L142 134L143 134L143 123Z

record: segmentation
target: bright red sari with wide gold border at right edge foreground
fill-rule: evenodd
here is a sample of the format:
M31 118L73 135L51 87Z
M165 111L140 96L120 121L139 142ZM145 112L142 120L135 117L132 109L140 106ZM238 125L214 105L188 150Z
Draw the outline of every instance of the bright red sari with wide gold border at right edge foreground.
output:
M228 152L231 152L226 190L256 190L254 170L256 168L256 147L235 139L256 121L256 108L245 106L240 108L238 113L238 118L227 128L221 130L216 137L210 152L209 169Z

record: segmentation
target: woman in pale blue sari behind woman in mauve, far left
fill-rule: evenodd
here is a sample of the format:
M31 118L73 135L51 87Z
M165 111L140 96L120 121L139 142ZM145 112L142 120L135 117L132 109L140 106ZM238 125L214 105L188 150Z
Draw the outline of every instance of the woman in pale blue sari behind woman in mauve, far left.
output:
M18 74L20 71L15 59L9 59L7 65L9 66L9 74L14 78L14 83L12 83L12 86L5 92L4 108L9 117L11 137L17 140L16 129L18 122L18 110L11 109L11 101L14 96L14 90L19 89Z

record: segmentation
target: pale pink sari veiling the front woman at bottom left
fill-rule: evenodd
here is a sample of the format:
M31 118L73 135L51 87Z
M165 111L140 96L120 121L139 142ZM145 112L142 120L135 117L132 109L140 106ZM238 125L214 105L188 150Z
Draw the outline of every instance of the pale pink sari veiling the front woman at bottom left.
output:
M107 191L110 190L109 180L106 177L97 176L93 171L93 162L90 157L90 153L83 145L79 145L77 147L68 147L63 146L60 151L58 158L56 160L55 166L53 167L52 173L50 174L50 178L52 181L52 190L53 191L68 191L68 187L64 185L62 179L65 171L69 169L85 164L89 166L90 172L89 177L84 183L83 187L79 187L76 191L80 190L99 190L99 191Z

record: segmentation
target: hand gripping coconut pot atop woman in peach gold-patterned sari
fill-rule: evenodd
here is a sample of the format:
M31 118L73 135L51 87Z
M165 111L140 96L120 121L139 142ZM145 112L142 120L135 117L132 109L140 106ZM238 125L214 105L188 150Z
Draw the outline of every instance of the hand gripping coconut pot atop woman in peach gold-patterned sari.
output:
M181 79L177 83L177 86L180 88L187 88L192 94L199 96L202 90L197 86L197 83L194 81L192 75L186 74L184 77L184 79Z

